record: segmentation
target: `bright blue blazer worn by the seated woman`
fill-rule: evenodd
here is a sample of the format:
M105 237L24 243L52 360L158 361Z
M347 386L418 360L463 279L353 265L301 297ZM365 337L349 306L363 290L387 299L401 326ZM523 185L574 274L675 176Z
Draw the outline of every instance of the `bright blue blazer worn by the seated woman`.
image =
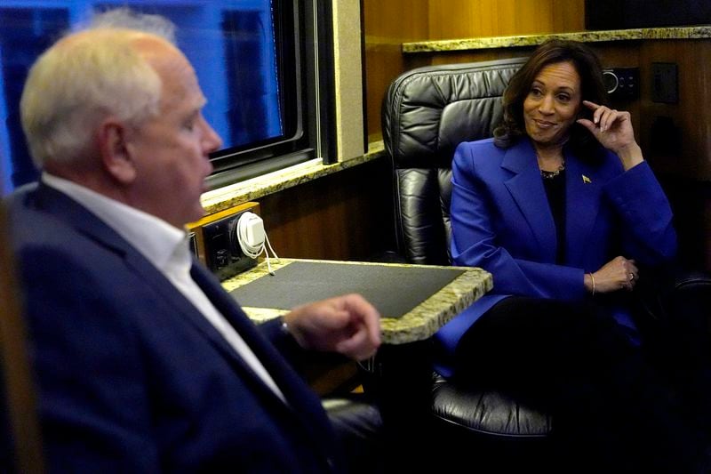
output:
M619 157L601 153L594 165L563 151L566 241L557 242L531 141L509 149L492 139L459 145L451 178L452 261L486 269L494 285L435 335L442 353L436 368L444 375L451 374L462 334L508 295L581 301L584 274L618 255L643 265L674 257L671 208L649 165L624 172ZM564 265L555 264L558 245L565 245ZM610 309L620 324L634 327L624 304Z

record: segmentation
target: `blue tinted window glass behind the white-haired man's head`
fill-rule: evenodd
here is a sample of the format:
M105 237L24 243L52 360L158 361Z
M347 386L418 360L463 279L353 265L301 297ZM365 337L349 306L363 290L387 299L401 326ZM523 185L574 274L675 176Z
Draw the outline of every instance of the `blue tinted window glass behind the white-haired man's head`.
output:
M178 27L177 42L208 99L204 116L225 149L249 149L284 136L276 0L2 0L0 2L0 177L2 190L36 179L20 128L28 68L61 33L92 11L130 6Z

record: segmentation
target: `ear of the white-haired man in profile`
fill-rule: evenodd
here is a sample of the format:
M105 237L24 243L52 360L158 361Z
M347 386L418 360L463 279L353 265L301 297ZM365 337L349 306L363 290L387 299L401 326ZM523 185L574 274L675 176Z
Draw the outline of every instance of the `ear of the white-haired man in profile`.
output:
M136 178L136 166L128 145L130 130L115 119L105 120L98 130L101 164L104 169L122 184L130 184Z

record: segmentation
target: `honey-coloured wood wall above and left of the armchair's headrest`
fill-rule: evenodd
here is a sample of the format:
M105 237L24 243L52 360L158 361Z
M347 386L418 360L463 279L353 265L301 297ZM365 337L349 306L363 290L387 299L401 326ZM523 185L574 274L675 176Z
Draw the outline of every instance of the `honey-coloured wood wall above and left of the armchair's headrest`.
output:
M423 58L404 58L402 43L580 31L585 0L363 0L363 26L368 136L376 141L387 85Z

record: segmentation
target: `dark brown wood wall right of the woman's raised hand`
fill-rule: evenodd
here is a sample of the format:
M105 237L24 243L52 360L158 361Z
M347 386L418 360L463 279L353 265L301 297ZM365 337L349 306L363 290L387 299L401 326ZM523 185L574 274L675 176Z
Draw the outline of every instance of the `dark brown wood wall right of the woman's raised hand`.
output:
M649 41L639 48L642 95L635 126L675 212L680 255L711 271L711 40ZM678 68L679 103L651 100L653 62Z

